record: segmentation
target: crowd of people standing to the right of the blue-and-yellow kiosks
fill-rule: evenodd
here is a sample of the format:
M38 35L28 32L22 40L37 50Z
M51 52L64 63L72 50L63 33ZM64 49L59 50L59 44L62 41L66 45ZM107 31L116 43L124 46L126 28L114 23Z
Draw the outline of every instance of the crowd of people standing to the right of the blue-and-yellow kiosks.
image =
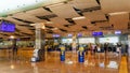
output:
M84 46L84 50L88 53L89 50L91 54L95 53L117 53L120 55L126 55L128 53L128 45L127 44L113 44L113 43L104 43L104 44L88 44Z

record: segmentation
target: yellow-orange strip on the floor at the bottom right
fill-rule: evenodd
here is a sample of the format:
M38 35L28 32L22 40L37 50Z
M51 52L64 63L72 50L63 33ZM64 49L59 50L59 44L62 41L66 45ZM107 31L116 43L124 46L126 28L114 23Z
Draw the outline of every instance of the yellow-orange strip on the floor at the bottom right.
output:
M127 57L121 57L119 73L128 73Z

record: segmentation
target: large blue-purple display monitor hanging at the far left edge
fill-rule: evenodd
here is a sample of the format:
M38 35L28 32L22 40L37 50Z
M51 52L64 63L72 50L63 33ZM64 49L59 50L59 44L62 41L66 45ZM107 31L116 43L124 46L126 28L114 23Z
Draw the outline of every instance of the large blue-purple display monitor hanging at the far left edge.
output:
M2 21L0 24L0 31L3 32L14 32L15 31L15 25L9 21Z

